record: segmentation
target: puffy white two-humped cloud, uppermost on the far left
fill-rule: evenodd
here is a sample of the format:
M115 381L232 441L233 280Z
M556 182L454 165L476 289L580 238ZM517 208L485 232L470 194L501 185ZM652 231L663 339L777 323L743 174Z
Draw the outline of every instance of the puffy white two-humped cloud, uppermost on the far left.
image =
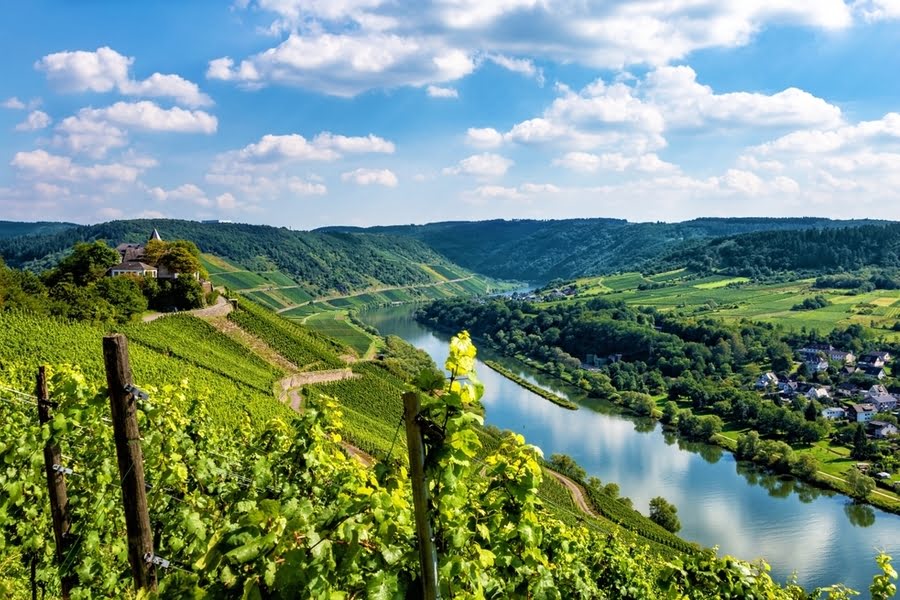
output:
M187 106L210 106L212 99L200 91L196 83L179 75L153 73L134 80L129 71L134 58L119 54L109 47L90 52L56 52L35 63L47 79L66 92L112 92L144 98L171 98Z

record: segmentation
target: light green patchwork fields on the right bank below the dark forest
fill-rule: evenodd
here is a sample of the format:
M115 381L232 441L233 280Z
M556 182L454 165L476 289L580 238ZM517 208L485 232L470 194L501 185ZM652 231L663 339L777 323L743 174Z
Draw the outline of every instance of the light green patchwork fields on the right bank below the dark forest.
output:
M663 274L672 277L683 272ZM627 304L652 306L661 311L703 314L728 320L751 319L776 323L788 330L814 329L827 333L835 327L859 324L888 341L900 341L893 331L900 320L900 291L875 290L851 295L845 290L816 289L813 279L757 284L746 278L711 276L702 279L671 279L657 289L637 289L648 280L639 273L579 280L579 296L607 294ZM807 298L821 295L831 304L816 310L791 310Z

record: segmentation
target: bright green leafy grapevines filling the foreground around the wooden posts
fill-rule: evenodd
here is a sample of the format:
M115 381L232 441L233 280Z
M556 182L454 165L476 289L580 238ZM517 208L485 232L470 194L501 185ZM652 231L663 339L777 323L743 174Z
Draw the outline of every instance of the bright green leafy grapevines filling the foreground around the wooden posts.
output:
M5 356L0 371L0 595L56 597L64 578L74 586L73 598L128 596L122 476L109 402L98 385L100 336L68 324L42 329L46 322L21 315L0 318L6 351L19 353ZM43 337L29 345L36 333ZM57 347L38 350L48 346ZM51 369L53 415L40 426L30 392L34 363L51 355L61 362L73 356L72 348L81 369ZM218 352L228 356L227 344ZM479 397L465 383L474 377L467 370L471 353L471 345L451 347L448 366L462 379L423 396L421 413L444 432L428 438L433 459L427 473L446 597L807 598L795 587L780 588L763 564L708 551L660 555L614 529L555 518L540 496L568 506L571 500L562 500L558 484L544 484L535 449L521 436L482 429L477 413L460 410ZM151 357L153 367L141 367ZM358 364L361 378L316 386L301 415L231 412L222 418L217 413L236 398L221 389L163 383L166 372L170 381L205 369L137 342L132 360L136 383L147 392L137 409L152 556L161 560L159 597L399 600L415 593L419 553L406 469L402 461L387 460L367 470L346 458L339 447L339 431L347 430L342 410L328 397L339 396L348 414L381 415L386 432L392 431L402 380L376 364ZM219 374L208 378L229 381ZM72 470L66 475L72 529L59 564L45 443L58 446ZM393 451L402 456L404 445L398 442Z

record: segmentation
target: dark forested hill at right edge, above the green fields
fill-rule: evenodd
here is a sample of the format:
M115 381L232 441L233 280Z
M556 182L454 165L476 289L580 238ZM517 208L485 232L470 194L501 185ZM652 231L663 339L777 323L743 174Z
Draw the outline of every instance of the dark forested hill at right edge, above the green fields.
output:
M900 223L802 231L760 231L687 245L656 270L690 267L748 277L774 272L820 274L900 267Z

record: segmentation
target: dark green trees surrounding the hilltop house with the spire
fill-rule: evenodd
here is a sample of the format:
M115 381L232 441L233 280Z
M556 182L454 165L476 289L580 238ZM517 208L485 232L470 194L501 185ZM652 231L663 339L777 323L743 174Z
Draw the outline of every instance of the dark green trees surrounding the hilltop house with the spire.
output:
M204 272L191 242L151 242L146 261L180 273ZM184 310L203 306L205 296L193 277L158 280L107 277L119 253L102 241L79 242L56 267L36 275L0 261L0 310L26 310L93 323L124 323L148 308Z

